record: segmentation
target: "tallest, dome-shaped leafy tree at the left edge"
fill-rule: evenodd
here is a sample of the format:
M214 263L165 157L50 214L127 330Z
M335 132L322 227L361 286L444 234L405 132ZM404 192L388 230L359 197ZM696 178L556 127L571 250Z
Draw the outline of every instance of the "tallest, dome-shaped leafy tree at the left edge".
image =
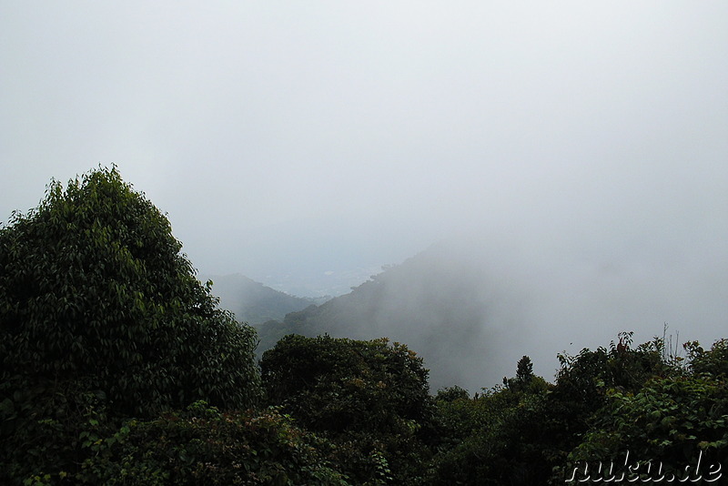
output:
M180 249L116 167L66 189L52 182L38 208L0 227L0 470L30 468L33 447L36 468L74 460L54 460L31 434L44 423L75 430L92 405L86 392L117 418L196 400L256 403L255 331L217 308Z

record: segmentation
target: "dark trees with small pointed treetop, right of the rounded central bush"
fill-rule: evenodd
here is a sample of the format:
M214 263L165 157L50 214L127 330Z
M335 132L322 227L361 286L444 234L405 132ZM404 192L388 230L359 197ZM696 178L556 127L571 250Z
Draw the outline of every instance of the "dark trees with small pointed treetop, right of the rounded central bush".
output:
M472 400L439 400L443 441L430 484L561 484L570 452L609 394L638 393L654 377L682 376L675 361L664 358L661 339L631 349L632 333L619 338L610 350L560 356L555 385L534 376L524 356L503 387Z

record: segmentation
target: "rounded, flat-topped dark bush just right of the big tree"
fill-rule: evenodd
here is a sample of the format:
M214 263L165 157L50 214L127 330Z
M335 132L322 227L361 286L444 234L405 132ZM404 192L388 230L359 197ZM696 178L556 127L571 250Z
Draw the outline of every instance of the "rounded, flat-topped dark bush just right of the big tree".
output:
M333 440L354 481L416 483L432 400L422 359L387 339L289 335L260 362L269 403Z

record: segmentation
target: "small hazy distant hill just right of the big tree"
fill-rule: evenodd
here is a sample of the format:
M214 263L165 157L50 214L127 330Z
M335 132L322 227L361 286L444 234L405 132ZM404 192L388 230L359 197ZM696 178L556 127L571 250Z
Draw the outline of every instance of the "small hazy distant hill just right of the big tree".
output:
M236 319L254 327L268 320L283 319L289 312L305 309L326 299L288 295L240 274L209 279L213 282L213 295L220 298L220 307L233 312Z

